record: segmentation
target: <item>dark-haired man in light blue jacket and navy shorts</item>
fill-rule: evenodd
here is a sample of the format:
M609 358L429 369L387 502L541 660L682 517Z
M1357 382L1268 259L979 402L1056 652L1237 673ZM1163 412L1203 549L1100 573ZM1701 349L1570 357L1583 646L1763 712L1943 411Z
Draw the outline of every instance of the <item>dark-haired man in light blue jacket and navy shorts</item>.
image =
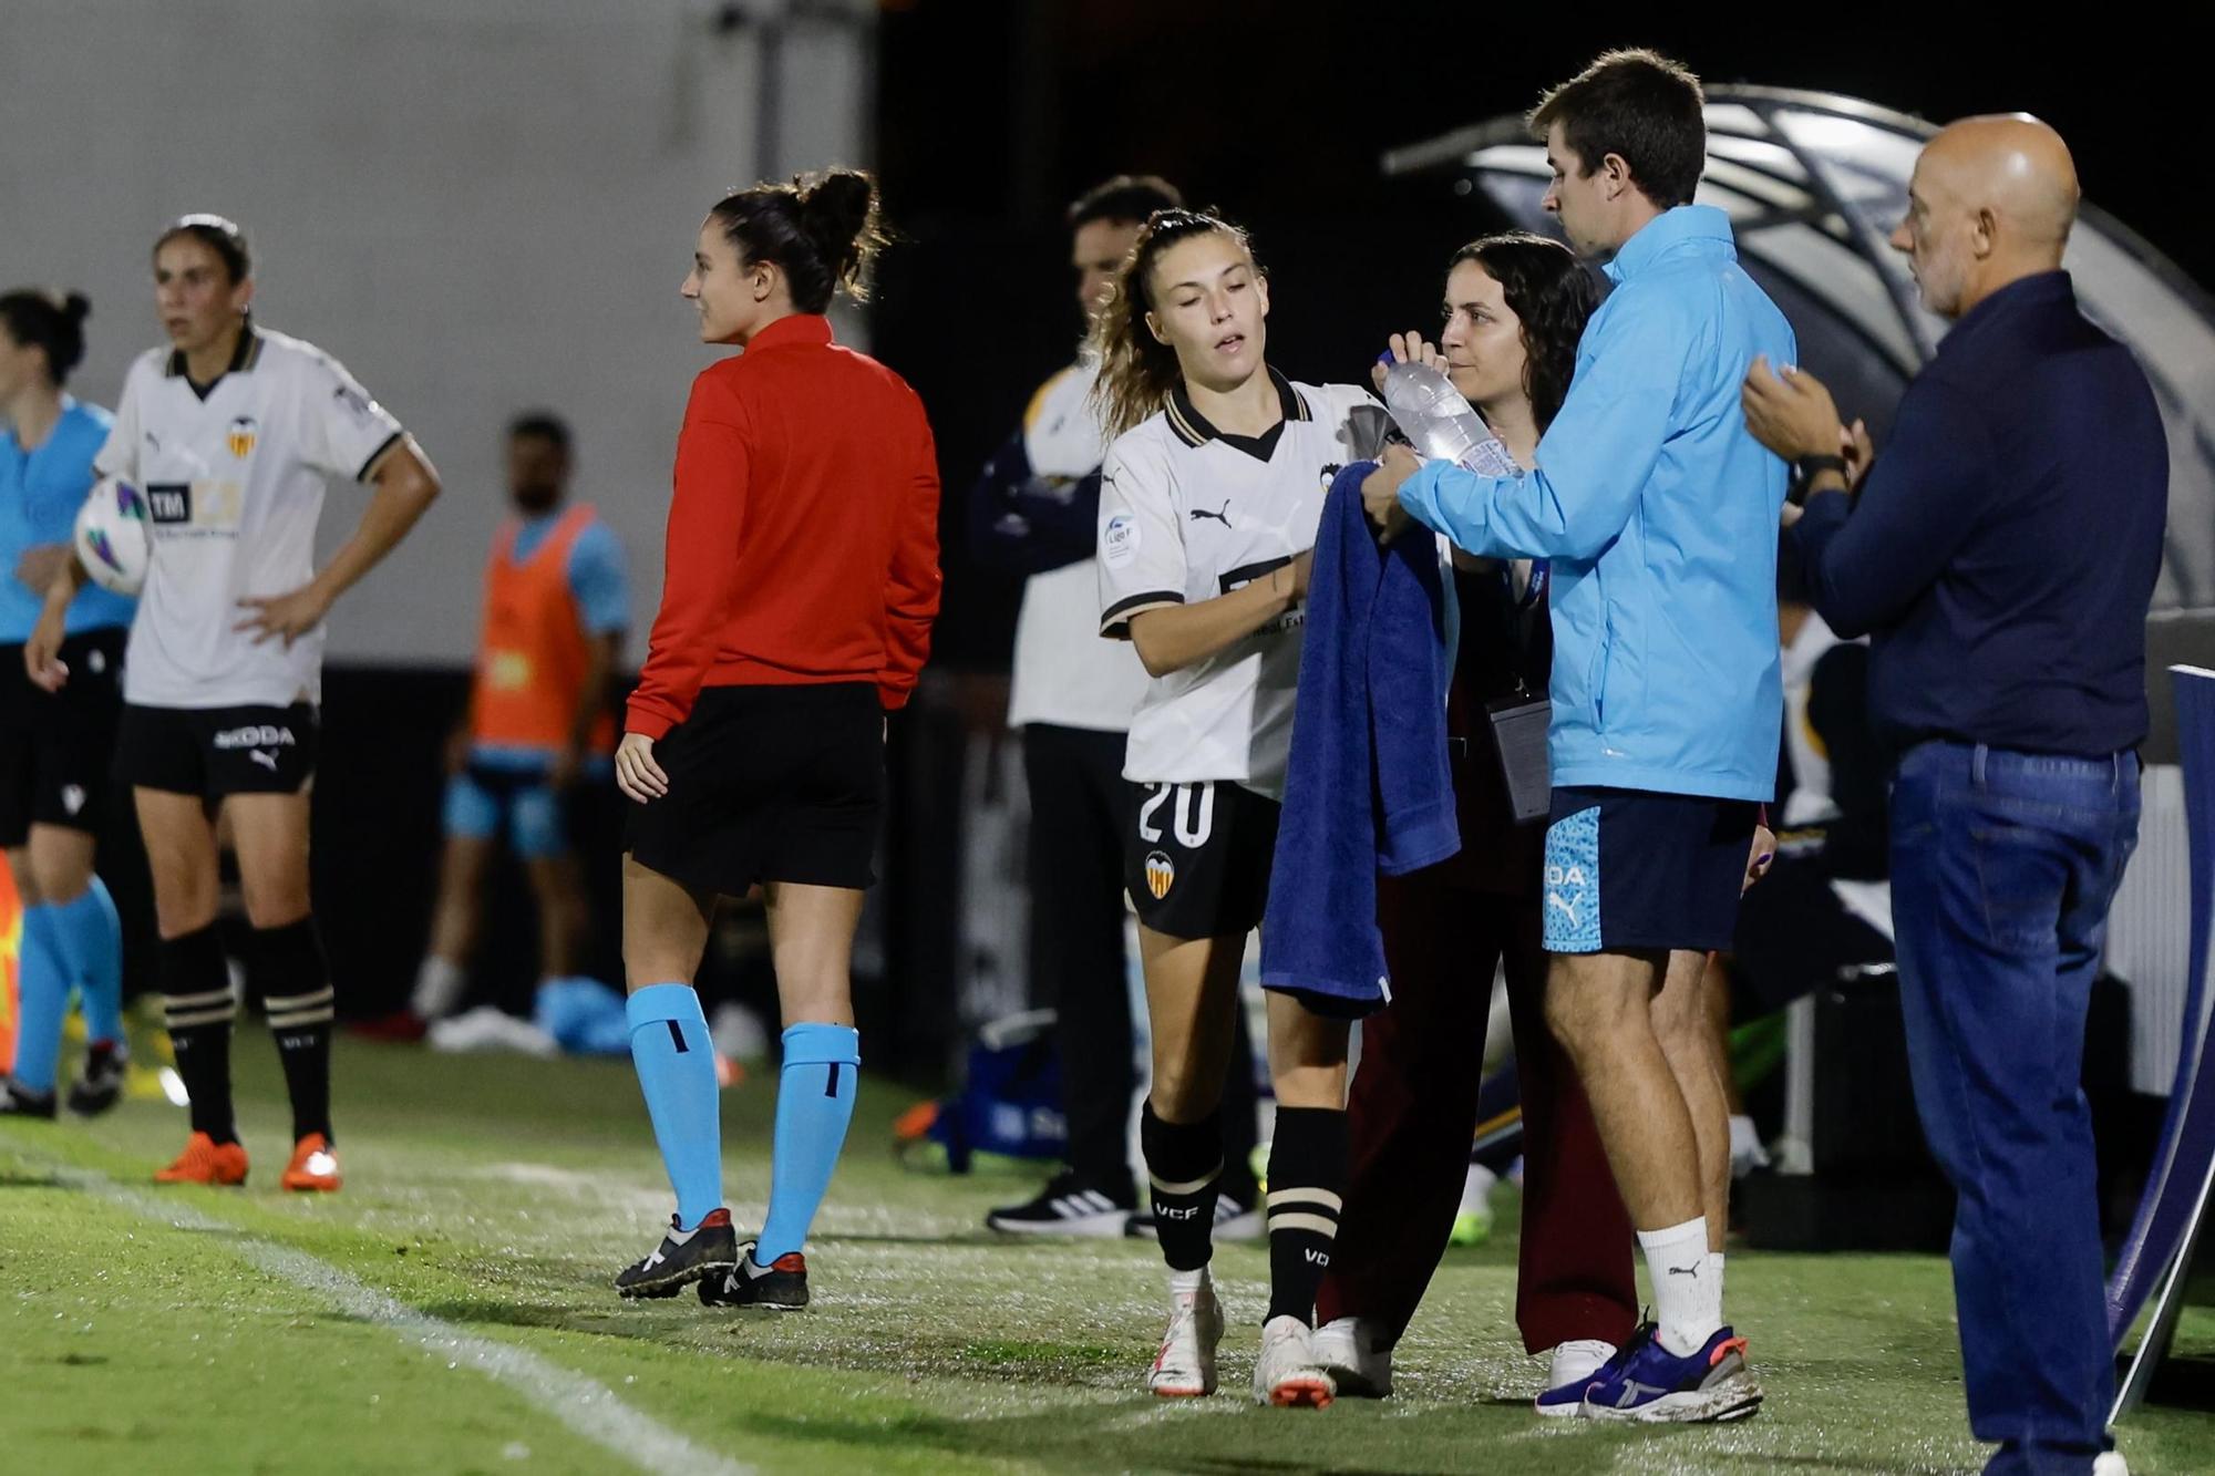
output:
M1690 204L1699 80L1615 51L1531 115L1570 246L1615 290L1586 326L1537 470L1477 476L1393 448L1364 485L1471 554L1553 578L1546 1015L1639 1228L1657 1321L1582 1396L1593 1418L1721 1421L1761 1392L1723 1325L1730 1113L1699 1015L1776 782L1776 516L1785 463L1745 430L1756 355L1792 328L1739 266L1730 219ZM1564 1410L1566 1412L1566 1410Z

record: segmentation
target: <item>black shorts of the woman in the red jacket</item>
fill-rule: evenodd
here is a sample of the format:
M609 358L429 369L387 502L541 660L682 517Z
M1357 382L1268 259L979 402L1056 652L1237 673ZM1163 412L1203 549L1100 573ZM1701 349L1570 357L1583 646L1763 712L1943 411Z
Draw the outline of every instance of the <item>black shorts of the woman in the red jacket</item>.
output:
M653 745L669 793L629 804L625 849L693 891L866 889L884 816L884 709L870 683L702 687Z

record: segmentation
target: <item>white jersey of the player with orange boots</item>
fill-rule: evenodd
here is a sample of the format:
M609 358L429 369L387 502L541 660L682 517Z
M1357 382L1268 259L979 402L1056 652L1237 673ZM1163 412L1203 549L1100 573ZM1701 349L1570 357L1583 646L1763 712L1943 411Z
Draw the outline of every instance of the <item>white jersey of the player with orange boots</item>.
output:
M146 494L153 563L131 623L124 700L140 707L319 703L323 629L255 645L246 596L315 574L315 525L332 479L361 481L401 426L315 344L248 328L206 394L184 355L153 348L124 377L93 461Z

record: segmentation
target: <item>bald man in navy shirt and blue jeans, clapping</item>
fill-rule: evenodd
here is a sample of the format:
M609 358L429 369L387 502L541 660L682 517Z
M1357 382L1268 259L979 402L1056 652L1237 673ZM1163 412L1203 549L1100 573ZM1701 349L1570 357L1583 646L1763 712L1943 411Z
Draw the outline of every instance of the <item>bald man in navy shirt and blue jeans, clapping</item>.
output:
M2000 1443L1987 1472L2109 1476L2124 1467L2106 1436L2078 1077L2106 909L2137 842L2168 452L2137 361L2084 319L2060 268L2075 204L2053 129L1954 124L1916 162L1892 233L1954 328L1883 459L1790 366L1756 363L1743 403L1754 437L1799 463L1816 609L1841 636L1874 636L1907 1055L1960 1192L1969 1427Z

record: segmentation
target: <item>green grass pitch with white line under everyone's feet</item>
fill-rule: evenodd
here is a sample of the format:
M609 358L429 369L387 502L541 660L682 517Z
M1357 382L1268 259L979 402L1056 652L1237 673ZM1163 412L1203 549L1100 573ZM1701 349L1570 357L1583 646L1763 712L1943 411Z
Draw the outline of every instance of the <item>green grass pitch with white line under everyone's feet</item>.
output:
M148 1042L151 1044L151 1042ZM244 1190L155 1190L184 1113L0 1124L0 1469L7 1472L1974 1472L1947 1268L1732 1257L1768 1405L1699 1429L1539 1421L1513 1325L1513 1201L1451 1252L1398 1396L1256 1410L1260 1248L1227 1246L1223 1394L1143 1370L1161 1277L1139 1241L981 1230L1012 1177L895 1166L908 1097L870 1082L808 1246L804 1314L622 1303L669 1190L627 1062L441 1057L339 1042L346 1190L277 1190L275 1053L233 1050ZM758 1226L773 1075L724 1093L733 1214ZM2186 1314L2184 1354L2215 1354ZM490 1365L505 1370L501 1376ZM2146 1410L2137 1474L2215 1472L2215 1421ZM720 1460L718 1460L720 1458Z

